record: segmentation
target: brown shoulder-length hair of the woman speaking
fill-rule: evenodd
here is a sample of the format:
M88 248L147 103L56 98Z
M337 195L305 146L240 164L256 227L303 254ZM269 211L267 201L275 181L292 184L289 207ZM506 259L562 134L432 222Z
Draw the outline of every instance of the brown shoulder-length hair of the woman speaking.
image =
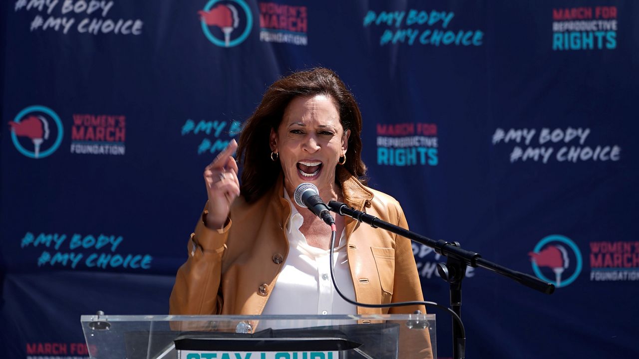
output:
M273 187L282 172L280 162L273 162L270 158L271 129L277 132L284 110L293 98L314 95L327 95L334 100L344 132L351 130L346 163L343 167L366 183L366 165L361 158L362 114L357 102L335 72L327 68L313 68L291 73L275 81L266 90L262 102L243 126L238 143L238 159L242 164L240 191L246 201L259 199ZM336 174L335 181L337 178ZM341 185L339 181L337 183Z

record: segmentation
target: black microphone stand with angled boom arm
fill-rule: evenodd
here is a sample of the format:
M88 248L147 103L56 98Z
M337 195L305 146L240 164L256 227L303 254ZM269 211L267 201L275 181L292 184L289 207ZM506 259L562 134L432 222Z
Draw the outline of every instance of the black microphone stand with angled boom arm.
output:
M511 270L510 268L500 266L497 263L487 261L486 259L483 259L479 253L462 249L458 242L431 240L421 234L408 231L408 229L398 227L397 225L385 222L380 218L355 210L355 208L351 208L343 202L329 201L328 208L341 216L346 215L348 217L352 217L358 222L364 222L371 225L373 228L381 228L389 232L399 234L409 240L413 240L425 245L426 247L433 248L438 254L446 256L446 264L437 264L437 271L440 274L440 277L449 283L450 307L459 317L461 317L461 281L466 276L467 266L481 267L500 275L504 275L505 277L515 280L524 286L535 289L535 291L540 291L541 293L552 294L553 291L555 291L555 286L553 286L553 284L546 283L532 275ZM461 329L459 328L458 323L454 320L452 321L452 342L453 357L465 358L466 338L461 335Z

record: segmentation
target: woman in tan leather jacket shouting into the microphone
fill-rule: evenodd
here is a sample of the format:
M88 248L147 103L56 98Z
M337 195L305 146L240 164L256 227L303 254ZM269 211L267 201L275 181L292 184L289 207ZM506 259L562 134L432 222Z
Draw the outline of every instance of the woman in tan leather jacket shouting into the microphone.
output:
M366 187L362 116L331 70L277 80L231 141L204 170L208 202L189 240L171 293L171 314L395 314L423 306L356 307L423 300L410 240L336 216L331 228L291 201L312 183L319 196L407 227L399 203ZM237 150L242 179L232 157ZM340 235L341 234L341 235Z

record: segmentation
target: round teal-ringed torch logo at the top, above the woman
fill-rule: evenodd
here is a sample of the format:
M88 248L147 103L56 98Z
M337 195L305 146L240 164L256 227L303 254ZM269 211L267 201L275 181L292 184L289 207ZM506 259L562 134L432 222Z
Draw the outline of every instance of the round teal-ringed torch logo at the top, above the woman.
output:
M249 36L253 26L253 15L249 5L243 0L228 0L222 4L223 0L210 0L204 6L204 10L199 11L202 23L202 31L210 42L220 47L234 47L242 43ZM217 6L215 6L217 4ZM240 9L245 15L246 23L240 36L231 36L240 30ZM219 27L223 38L219 38L211 32L211 26ZM217 33L217 31L215 31Z

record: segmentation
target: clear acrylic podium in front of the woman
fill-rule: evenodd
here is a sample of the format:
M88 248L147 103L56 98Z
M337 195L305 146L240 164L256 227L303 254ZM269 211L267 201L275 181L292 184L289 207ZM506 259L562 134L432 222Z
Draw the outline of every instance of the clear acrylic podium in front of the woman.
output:
M436 358L435 315L82 316L96 359ZM431 356L432 355L432 356Z

